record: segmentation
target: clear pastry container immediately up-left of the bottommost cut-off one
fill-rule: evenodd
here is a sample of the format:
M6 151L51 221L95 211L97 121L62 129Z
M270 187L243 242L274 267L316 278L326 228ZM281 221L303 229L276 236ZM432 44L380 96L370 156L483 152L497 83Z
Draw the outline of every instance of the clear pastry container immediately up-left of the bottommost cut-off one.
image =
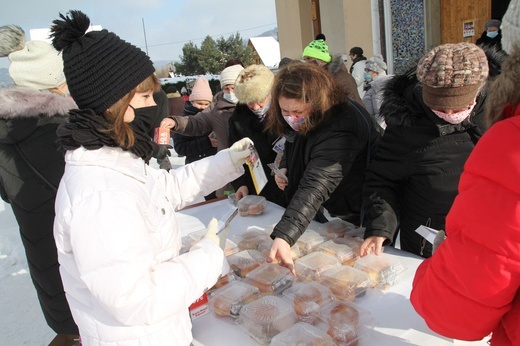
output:
M292 305L279 296L265 295L242 307L236 323L251 338L268 344L297 322Z

